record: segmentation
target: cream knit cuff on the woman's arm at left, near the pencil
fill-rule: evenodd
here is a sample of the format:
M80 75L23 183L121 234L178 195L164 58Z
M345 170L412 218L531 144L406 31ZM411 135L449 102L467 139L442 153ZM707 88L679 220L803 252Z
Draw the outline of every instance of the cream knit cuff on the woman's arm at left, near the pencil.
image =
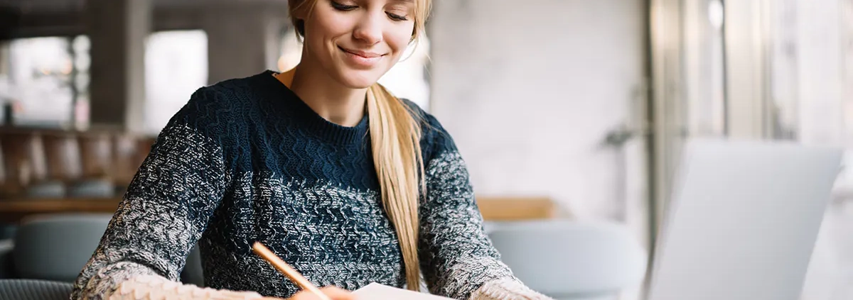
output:
M161 276L140 275L125 280L107 297L109 300L249 300L262 296L254 291L227 291L183 285Z

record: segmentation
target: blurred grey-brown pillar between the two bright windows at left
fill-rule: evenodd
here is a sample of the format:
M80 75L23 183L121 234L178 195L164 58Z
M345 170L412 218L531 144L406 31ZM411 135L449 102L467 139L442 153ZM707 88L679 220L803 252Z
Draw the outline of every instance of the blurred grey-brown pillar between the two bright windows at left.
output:
M150 0L87 0L93 128L141 131L145 113L145 39Z

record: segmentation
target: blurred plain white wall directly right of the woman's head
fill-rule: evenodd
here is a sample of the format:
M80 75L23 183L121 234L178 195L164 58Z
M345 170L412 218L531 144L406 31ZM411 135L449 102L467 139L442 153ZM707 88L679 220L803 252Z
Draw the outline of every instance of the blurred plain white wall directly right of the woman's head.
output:
M624 156L602 142L642 101L643 14L640 0L435 3L432 113L476 193L545 194L576 216L620 214Z

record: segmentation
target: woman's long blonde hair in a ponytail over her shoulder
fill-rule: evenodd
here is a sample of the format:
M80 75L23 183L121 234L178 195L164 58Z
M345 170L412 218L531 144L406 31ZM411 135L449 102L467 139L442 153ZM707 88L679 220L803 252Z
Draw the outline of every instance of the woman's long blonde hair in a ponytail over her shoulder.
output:
M310 16L316 0L288 1L291 22L297 36L304 37L305 21L294 15ZM431 0L415 0L415 30L412 42L425 31ZM418 201L424 183L424 162L421 157L421 119L402 100L381 84L373 84L367 95L370 140L374 166L379 176L382 205L391 219L400 251L403 254L406 286L421 288L421 268L418 259Z

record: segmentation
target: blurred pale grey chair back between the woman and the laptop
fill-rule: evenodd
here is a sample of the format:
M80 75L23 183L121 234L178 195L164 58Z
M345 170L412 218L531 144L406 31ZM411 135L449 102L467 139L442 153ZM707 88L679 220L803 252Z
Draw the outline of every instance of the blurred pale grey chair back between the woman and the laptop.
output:
M567 220L491 223L502 261L558 300L611 300L641 285L647 251L623 225Z

